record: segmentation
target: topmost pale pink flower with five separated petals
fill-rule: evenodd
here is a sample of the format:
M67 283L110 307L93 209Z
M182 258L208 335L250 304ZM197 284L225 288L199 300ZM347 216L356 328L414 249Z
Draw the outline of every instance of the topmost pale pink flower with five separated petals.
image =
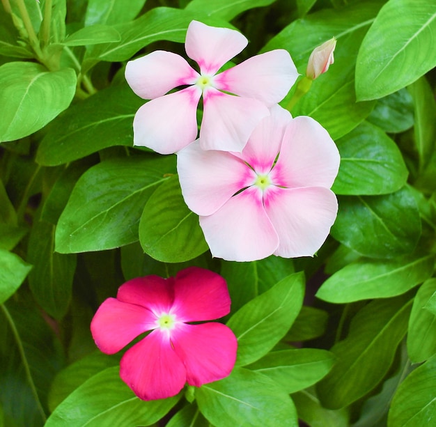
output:
M196 61L196 72L182 56L156 51L125 69L127 83L141 98L151 100L134 117L134 144L161 154L176 153L196 139L196 110L203 95L201 148L240 152L267 107L281 101L298 73L286 50L253 56L217 74L247 46L238 31L192 21L185 50ZM180 91L168 93L178 86Z

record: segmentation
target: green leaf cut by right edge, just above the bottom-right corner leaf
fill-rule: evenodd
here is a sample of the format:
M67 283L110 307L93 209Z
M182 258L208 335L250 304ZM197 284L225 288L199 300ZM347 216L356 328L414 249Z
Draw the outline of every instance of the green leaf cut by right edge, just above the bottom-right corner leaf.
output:
M436 279L428 279L414 299L407 333L407 351L414 363L423 362L436 354L436 316L424 309L435 292Z

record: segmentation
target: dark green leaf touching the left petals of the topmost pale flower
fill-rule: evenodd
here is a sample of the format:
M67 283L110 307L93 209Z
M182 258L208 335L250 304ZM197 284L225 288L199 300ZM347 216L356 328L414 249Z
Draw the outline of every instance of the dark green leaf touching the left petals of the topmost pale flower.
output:
M111 146L132 146L133 118L143 100L127 85L110 86L81 101L48 127L36 155L57 166Z

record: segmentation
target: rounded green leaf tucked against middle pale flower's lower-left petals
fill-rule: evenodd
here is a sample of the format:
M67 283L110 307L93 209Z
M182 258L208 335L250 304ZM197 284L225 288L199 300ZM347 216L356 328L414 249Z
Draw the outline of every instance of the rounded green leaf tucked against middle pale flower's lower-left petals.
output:
M189 261L208 250L198 215L183 200L178 176L169 178L148 199L139 240L146 254L165 263Z

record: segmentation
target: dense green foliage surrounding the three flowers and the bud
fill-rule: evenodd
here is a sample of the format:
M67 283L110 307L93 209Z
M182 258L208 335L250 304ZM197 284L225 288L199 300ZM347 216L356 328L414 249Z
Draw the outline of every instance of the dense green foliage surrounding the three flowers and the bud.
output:
M341 153L314 258L211 258L174 155L132 146L125 63L184 54L189 22L240 30L234 61L333 36L309 115ZM436 419L435 0L2 0L0 427L416 427ZM295 98L294 98L295 99ZM228 378L140 401L89 323L123 281L221 273ZM304 424L302 424L304 423Z

